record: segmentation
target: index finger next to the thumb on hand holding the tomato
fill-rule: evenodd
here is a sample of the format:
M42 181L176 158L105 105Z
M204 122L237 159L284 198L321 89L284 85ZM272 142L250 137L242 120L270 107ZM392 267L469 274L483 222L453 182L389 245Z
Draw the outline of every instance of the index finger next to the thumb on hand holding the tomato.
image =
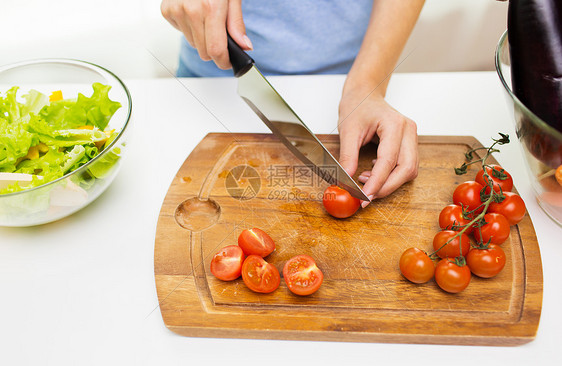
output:
M367 196L377 196L377 193L388 179L388 176L398 162L404 124L386 123L380 129L380 144L377 149L377 159L369 180L363 186Z

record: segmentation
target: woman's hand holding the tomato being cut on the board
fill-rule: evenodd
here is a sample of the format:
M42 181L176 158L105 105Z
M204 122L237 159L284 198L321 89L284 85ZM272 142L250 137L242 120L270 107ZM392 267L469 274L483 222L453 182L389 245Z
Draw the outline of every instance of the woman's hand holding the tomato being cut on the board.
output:
M379 141L373 169L359 181L370 199L385 197L418 174L418 135L414 121L392 108L381 95L344 93L339 106L340 163L355 174L359 148ZM368 202L363 202L365 207Z

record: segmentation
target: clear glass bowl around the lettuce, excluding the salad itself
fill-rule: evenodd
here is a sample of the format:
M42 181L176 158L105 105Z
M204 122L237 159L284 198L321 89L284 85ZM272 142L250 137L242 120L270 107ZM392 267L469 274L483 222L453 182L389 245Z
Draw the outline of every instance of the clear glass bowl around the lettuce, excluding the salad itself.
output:
M33 226L66 217L95 200L113 181L120 168L131 119L131 95L112 72L88 62L42 59L0 66L0 90L18 86L18 95L35 89L50 95L61 90L65 98L78 93L90 96L92 84L110 85L109 98L121 103L108 129L117 137L88 163L41 186L0 195L0 226Z

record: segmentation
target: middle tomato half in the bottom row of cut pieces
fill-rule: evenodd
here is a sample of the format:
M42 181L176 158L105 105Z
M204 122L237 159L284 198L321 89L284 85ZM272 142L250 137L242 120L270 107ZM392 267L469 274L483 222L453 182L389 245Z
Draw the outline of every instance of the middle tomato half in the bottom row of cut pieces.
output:
M250 290L267 294L277 290L281 276L273 264L252 254L242 264L242 280Z

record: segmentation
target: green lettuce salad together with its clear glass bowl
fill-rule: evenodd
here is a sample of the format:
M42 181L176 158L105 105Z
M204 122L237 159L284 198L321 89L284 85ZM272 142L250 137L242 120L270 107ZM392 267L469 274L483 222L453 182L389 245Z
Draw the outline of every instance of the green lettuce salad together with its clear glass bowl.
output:
M99 196L117 173L130 115L127 88L97 65L0 68L0 226L51 222Z

